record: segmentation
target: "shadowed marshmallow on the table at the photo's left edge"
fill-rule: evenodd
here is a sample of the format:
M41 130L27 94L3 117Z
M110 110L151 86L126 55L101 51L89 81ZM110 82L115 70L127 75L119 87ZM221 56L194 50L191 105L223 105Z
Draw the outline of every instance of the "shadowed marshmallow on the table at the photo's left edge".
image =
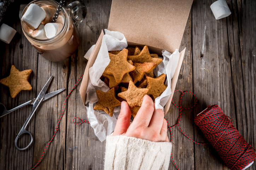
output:
M9 44L12 38L14 37L14 35L16 34L16 32L17 31L14 30L12 27L6 24L2 24L0 27L0 40Z

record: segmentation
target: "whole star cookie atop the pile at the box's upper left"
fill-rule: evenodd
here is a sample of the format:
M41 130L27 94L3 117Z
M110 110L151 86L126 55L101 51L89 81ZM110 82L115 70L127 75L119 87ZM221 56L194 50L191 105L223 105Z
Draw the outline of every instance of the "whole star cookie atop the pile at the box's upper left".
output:
M124 74L135 69L135 67L127 61L127 53L127 49L123 49L117 55L109 53L110 63L106 67L104 74L113 75L117 83L122 81Z

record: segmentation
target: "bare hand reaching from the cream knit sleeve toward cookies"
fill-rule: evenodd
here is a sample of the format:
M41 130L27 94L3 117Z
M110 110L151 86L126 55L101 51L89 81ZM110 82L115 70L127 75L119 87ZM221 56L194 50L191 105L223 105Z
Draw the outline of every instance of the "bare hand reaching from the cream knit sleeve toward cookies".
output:
M121 111L118 116L115 135L125 135L150 141L169 141L167 136L167 121L164 112L155 108L150 96L145 95L141 107L130 125L131 112L128 103L121 103Z

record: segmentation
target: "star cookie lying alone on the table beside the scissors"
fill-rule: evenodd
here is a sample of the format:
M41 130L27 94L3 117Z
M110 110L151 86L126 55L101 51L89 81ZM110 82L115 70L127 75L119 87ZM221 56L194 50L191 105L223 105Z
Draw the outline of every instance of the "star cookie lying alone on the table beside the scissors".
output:
M14 65L11 67L10 75L0 80L0 83L9 87L11 97L14 98L21 90L32 90L28 78L32 70L19 71Z

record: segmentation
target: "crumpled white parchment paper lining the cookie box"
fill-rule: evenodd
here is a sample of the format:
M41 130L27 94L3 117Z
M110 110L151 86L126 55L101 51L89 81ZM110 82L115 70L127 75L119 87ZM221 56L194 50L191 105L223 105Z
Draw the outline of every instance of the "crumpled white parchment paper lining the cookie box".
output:
M127 46L126 38L122 33L105 29L105 35L102 38L98 56L93 66L89 68L89 81L86 91L87 116L90 125L94 129L95 135L100 141L104 141L106 136L110 135L114 131L121 107L116 107L114 109L114 114L112 117L110 117L104 111L93 110L93 107L99 101L96 95L96 90L101 90L103 92L110 90L109 87L100 80L101 75L110 62L108 51L122 50ZM162 53L163 62L154 69L154 73L156 76L163 73L166 74L167 81L165 84L167 84L168 87L161 96L155 99L157 109L163 109L171 95L171 78L173 77L180 56L178 49L176 49L173 54L166 50L163 50Z

